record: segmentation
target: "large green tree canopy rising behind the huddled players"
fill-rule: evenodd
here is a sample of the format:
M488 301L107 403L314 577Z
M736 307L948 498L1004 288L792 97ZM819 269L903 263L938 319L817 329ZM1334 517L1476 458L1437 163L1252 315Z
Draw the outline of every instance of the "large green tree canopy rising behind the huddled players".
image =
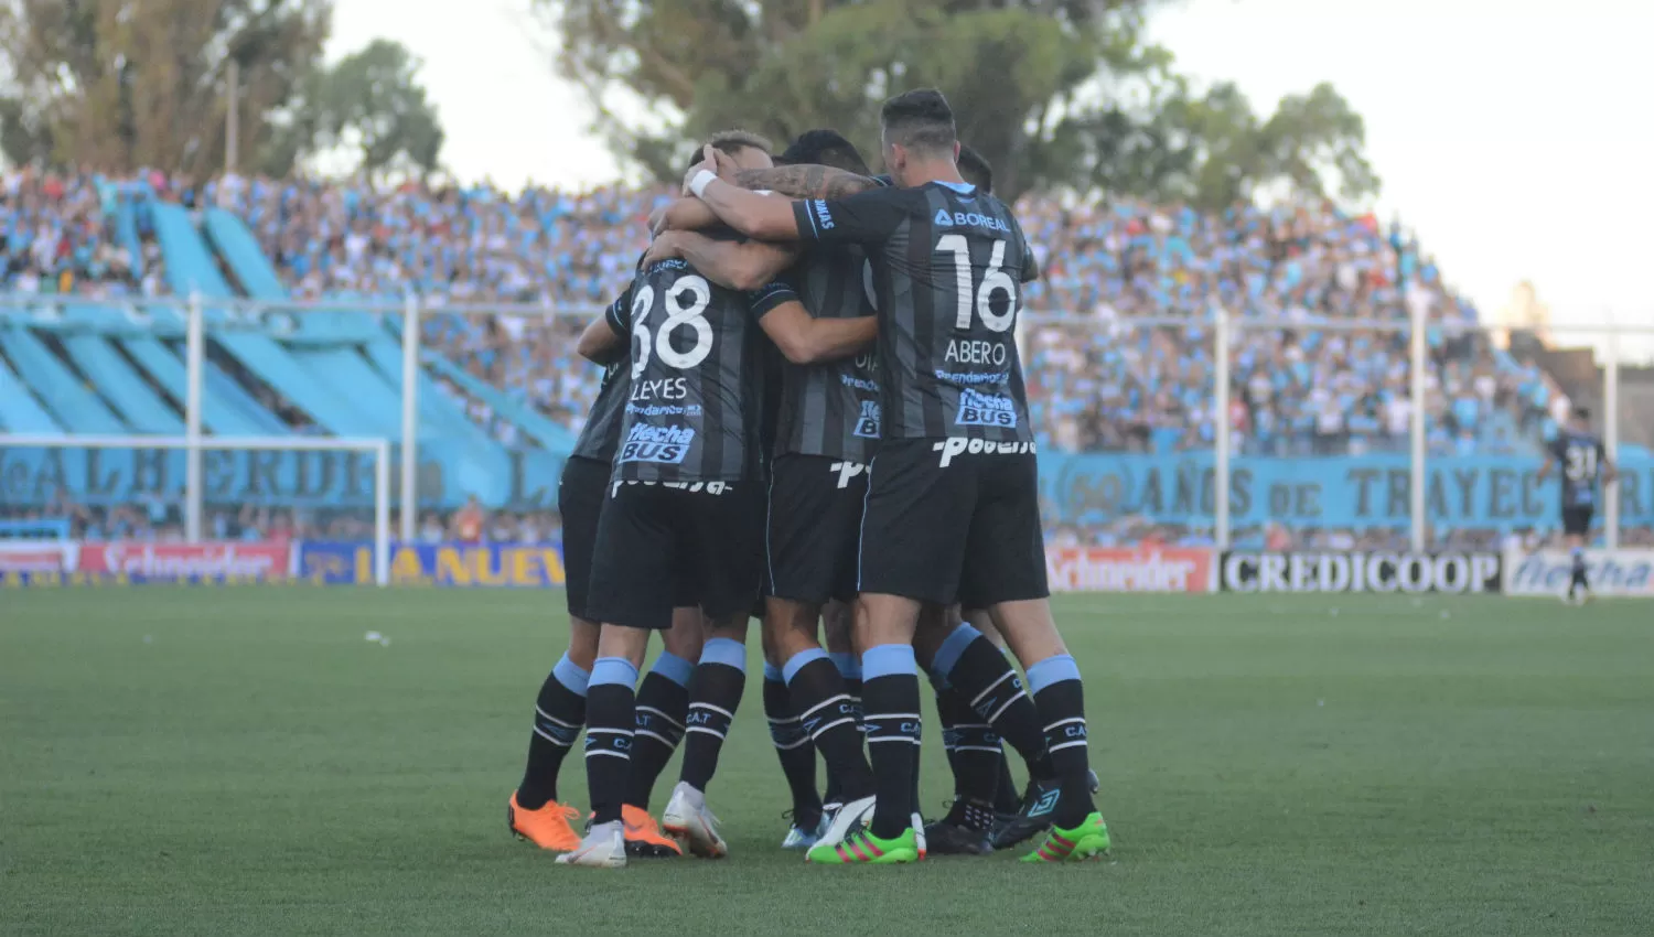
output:
M731 126L777 140L835 127L872 159L878 102L936 86L1009 195L1102 187L1214 207L1272 185L1378 192L1361 117L1331 86L1265 117L1232 84L1197 93L1145 38L1158 0L534 2L599 129L663 178Z

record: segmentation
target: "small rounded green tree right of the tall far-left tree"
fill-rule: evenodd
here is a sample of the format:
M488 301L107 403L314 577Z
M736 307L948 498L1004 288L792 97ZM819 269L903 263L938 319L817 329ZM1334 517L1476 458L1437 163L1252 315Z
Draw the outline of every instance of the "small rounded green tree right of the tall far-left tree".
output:
M374 40L331 69L306 83L294 127L278 145L298 154L314 147L361 150L361 169L437 169L443 131L425 88L418 83L420 59L400 43ZM311 136L306 145L306 132Z

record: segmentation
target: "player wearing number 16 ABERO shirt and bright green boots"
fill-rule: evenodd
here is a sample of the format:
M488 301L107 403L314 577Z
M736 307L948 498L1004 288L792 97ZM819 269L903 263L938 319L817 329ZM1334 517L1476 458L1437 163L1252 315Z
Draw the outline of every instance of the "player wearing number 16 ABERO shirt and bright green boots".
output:
M1012 334L1021 283L1037 276L1037 261L1011 212L959 178L958 136L941 93L892 98L882 126L896 188L777 203L721 182L718 165L728 160L710 150L685 180L749 236L862 245L872 259L883 441L862 522L857 636L877 808L868 828L819 843L810 859L918 858L913 636L921 608L958 602L961 582L1027 666L1059 778L1054 826L1025 859L1093 858L1107 851L1108 833L1087 785L1080 671L1050 615L1039 474Z

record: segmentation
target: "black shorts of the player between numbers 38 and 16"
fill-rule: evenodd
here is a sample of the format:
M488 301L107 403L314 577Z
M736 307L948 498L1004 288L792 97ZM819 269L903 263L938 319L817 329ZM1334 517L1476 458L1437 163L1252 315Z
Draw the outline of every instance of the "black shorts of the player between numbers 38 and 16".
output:
M855 597L867 466L832 456L777 456L769 469L764 593L805 605Z

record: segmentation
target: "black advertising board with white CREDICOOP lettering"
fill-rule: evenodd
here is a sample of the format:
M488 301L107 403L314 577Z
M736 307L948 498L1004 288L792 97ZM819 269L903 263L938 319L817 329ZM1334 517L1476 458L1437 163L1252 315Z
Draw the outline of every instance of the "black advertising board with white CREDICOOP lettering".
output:
M1499 592L1499 554L1229 552L1224 592Z

